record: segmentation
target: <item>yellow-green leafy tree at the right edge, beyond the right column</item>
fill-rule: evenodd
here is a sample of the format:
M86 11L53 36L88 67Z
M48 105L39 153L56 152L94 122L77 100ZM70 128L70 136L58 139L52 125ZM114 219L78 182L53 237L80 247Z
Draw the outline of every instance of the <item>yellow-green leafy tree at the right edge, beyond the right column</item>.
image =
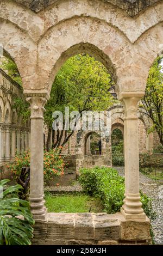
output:
M149 132L159 135L160 143L163 145L163 57L158 57L149 70L146 93L142 100L146 115L151 118L153 125Z

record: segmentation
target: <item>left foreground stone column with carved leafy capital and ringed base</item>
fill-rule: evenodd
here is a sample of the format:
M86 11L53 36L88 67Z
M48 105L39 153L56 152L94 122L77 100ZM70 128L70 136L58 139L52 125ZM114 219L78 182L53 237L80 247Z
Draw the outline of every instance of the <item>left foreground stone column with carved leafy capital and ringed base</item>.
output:
M25 93L26 94L26 93ZM30 127L30 208L35 220L45 220L43 200L43 106L48 93L26 94L31 109Z

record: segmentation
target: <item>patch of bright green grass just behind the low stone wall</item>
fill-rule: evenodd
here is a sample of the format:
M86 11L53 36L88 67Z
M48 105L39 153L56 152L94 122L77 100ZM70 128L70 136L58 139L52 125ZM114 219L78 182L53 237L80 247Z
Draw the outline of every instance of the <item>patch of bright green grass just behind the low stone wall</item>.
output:
M48 212L102 212L101 201L98 198L82 195L52 196L46 194Z

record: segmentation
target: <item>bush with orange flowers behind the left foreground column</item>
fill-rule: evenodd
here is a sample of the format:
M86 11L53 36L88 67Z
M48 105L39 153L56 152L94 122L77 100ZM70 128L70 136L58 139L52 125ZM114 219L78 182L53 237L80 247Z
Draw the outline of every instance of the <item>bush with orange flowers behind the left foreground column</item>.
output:
M44 181L47 183L49 180L53 180L55 176L64 175L65 163L60 156L60 148L51 149L48 152L44 151L43 156L43 174ZM9 163L7 166L14 179L17 179L21 174L22 167L30 167L30 151L16 154L15 161Z

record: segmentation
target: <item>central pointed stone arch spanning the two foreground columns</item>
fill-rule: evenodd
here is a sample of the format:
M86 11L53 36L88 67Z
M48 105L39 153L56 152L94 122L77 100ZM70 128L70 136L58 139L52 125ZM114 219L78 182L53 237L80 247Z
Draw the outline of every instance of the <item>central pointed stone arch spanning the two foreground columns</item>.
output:
M124 63L130 42L122 33L105 22L76 18L53 27L39 44L42 81L51 90L61 65L71 56L86 52L101 61L108 70L117 70ZM47 63L41 69L41 63ZM112 72L114 73L114 72ZM116 77L116 74L114 75Z

